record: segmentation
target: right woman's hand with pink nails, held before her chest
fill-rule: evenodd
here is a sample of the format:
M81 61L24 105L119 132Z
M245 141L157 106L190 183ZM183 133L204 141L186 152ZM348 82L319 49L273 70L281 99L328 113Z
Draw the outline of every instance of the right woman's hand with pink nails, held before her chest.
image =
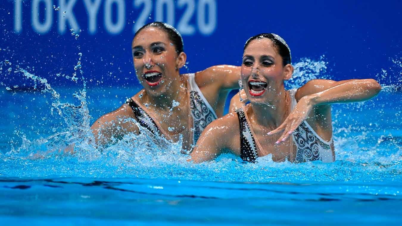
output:
M310 111L314 108L314 104L311 101L309 96L303 97L297 102L297 105L293 109L293 111L287 116L285 121L278 128L272 130L267 135L274 135L282 133L282 136L275 142L275 144L279 144L293 133L295 129L305 120L307 119Z

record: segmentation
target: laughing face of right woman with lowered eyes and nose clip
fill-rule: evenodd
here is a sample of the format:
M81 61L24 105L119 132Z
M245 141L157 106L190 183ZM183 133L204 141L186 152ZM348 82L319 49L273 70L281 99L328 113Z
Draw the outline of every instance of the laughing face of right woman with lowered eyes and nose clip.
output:
M292 72L290 64L283 66L283 59L270 39L254 39L244 50L241 78L251 103L273 100L280 92L283 80L289 79Z

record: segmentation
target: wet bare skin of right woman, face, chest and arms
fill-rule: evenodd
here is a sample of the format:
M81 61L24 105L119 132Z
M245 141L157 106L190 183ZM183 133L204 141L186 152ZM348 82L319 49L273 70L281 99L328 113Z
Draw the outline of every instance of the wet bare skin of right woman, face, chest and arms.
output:
M239 96L235 95L231 104L244 107L244 103L250 101L244 111L259 144L258 156L272 154L274 161L294 161L296 147L293 145L291 153L289 137L302 121L306 120L318 136L329 141L332 137L331 104L365 101L381 90L373 79L311 80L297 90L297 105L289 111L289 93L283 82L291 78L293 67L283 66L282 60L270 39L251 41L244 51L241 68L244 90L240 95L244 100L239 101ZM201 134L189 160L211 160L226 150L240 156L239 129L238 116L233 112L213 121Z

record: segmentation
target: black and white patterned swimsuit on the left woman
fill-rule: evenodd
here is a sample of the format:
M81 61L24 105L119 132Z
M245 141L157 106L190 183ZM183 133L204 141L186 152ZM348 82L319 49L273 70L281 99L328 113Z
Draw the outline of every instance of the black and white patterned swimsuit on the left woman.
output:
M194 73L188 75L188 82L190 86L190 110L191 117L193 117L191 131L193 132L193 145L195 145L205 127L207 127L207 125L213 120L217 119L217 116L195 82ZM137 103L135 103L131 98L127 99L126 103L131 107L131 109L133 109L135 118L140 125L149 129L153 134L160 135L160 131L154 120L141 107L139 107Z

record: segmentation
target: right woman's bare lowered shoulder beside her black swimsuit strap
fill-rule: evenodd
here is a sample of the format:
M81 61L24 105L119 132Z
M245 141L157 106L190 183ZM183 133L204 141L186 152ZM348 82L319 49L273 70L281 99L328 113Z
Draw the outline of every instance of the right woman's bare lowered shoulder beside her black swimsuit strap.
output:
M195 163L216 158L225 151L240 155L240 126L236 112L209 123L197 141L191 159Z

